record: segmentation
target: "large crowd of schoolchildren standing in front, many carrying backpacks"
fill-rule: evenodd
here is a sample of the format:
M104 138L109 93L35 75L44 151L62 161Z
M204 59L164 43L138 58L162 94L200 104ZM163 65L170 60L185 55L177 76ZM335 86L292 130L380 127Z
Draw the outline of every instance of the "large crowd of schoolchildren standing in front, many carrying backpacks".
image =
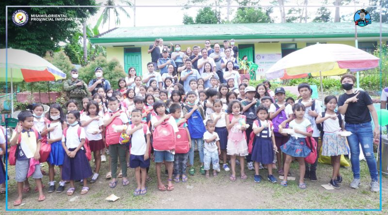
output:
M45 160L49 164L48 193L61 193L65 183L70 182L66 194L73 195L74 182L81 181L81 194L86 194L88 183L98 180L101 162L106 161L108 153L110 170L105 178L111 179L109 187L117 186L117 178L122 178L122 186L128 186L127 168L133 168L137 183L134 196L147 193L146 183L152 180L148 176L151 161L156 163L158 189L171 191L173 182L188 181L187 173L194 175L198 170L209 178L210 166L214 177L222 167L226 172L231 171L229 180L236 181L236 165L240 165L240 178L245 180L248 178L245 161L248 170L255 170L254 182L261 182L259 170L266 168L267 179L276 183L278 178L273 169L278 169L277 175L283 176L280 185L287 186L287 177L292 174L290 163L295 158L299 163L298 186L305 189L304 180L317 181L318 159L310 165L305 162L311 153L307 139L313 137L318 142L322 130L322 154L331 156L333 163L330 184L340 187L339 158L348 153L348 146L346 138L336 135L343 130L343 124L340 114L335 112L335 96L325 98L323 111L320 101L311 99L312 92L306 83L298 86L301 99L295 102L291 97L286 98L283 87L272 91L269 81L254 87L249 86L246 78L241 84L240 79L230 78L226 84L220 84L210 69L205 64L203 79L192 79L189 91L168 76L162 77L162 90L153 80L146 87L141 85L141 77L134 76L129 85L121 78L117 90L105 92L98 88L92 98L82 100L82 110L77 110L77 101L69 100L64 107L52 104L46 115L41 104L22 111L10 141L18 149L18 196L14 205L20 205L22 193L29 192L30 176L39 191L38 201L45 199L41 182L45 172L38 161L41 144L50 145ZM4 154L2 131L0 153ZM195 150L198 164L194 163ZM89 162L92 153L93 168ZM168 175L166 184L161 177L162 164ZM35 168L31 172L32 165ZM60 170L58 187L54 181L55 166ZM0 174L0 183L4 181L5 176ZM1 186L1 192L4 190Z

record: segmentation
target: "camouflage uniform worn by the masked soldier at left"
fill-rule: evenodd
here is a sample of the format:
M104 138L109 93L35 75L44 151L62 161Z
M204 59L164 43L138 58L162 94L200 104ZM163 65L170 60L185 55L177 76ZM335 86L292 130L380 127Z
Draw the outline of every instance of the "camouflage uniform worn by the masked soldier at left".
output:
M76 100L78 102L78 110L82 110L82 99L85 97L92 97L92 94L88 90L86 83L83 83L83 86L77 86L76 84L80 82L80 79L72 81L68 79L64 82L64 91L69 99Z

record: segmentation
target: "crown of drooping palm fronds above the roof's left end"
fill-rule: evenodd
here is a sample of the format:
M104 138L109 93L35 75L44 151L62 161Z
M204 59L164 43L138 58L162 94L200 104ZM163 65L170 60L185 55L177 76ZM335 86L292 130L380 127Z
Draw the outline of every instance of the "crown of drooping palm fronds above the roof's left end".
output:
M116 0L116 1L119 1L121 3L124 3L124 5L129 5L129 6L132 6L132 2L130 2L129 0ZM101 3L102 5L105 5L105 6L118 6L118 5L123 5L123 4L116 4L115 0L106 0L104 3ZM118 9L118 10L117 10ZM129 13L126 11L125 8L123 7L105 7L104 8L104 11L102 12L101 14L101 17L102 17L102 26L104 26L104 24L106 22L108 22L108 30L111 29L110 28L110 24L111 24L111 10L113 10L113 14L116 18L115 20L115 26L117 26L118 24L120 24L120 14L119 14L119 11L121 11L127 18L130 18L130 15Z

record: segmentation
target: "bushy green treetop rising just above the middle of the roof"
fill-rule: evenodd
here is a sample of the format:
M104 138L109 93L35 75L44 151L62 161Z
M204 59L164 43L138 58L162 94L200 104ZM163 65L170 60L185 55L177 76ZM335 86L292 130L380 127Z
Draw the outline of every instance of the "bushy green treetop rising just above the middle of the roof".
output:
M273 20L261 8L239 8L233 23L271 23Z

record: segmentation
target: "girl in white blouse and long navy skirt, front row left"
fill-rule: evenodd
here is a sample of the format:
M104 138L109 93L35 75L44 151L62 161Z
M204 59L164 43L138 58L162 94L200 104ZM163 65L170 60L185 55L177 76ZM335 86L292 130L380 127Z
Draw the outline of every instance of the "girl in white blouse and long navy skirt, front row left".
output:
M75 191L74 181L83 180L81 195L89 191L87 178L92 176L92 168L86 158L84 143L86 140L85 130L81 127L80 112L70 111L67 114L68 128L62 136L62 146L65 150L65 159L62 167L62 179L70 181L67 196L72 196Z

